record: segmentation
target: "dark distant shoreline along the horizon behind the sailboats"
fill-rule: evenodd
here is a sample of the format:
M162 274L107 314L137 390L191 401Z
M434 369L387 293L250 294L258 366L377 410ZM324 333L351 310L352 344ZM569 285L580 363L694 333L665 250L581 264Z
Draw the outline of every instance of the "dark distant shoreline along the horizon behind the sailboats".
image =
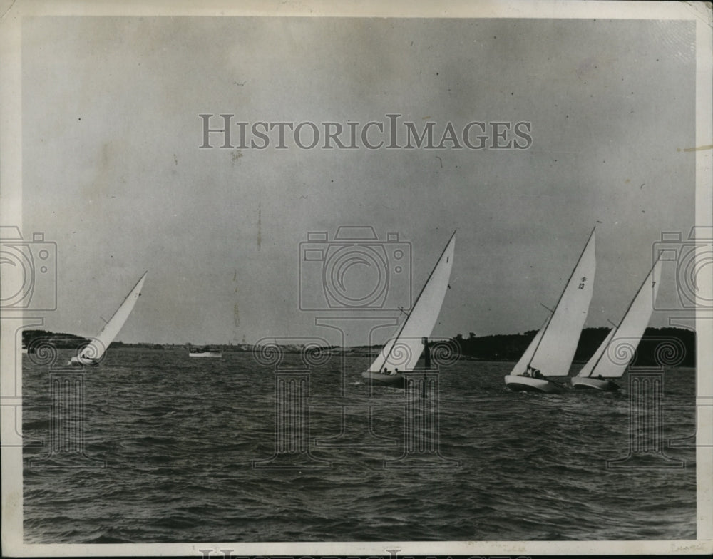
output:
M585 328L575 353L575 362L587 361L596 351L597 347L607 336L609 328ZM496 334L492 336L476 336L471 332L468 337L457 334L451 342L457 344L461 357L476 359L478 361L517 361L535 337L537 330L530 330L523 334ZM47 332L46 330L24 330L22 344L33 349L39 343L52 344L59 349L76 349L88 343L88 339L74 334ZM125 344L112 342L110 347L141 347L146 349L172 349L174 347L188 347L189 344ZM202 344L201 344L202 345ZM252 344L210 344L210 347L220 349L222 352L250 352ZM374 354L383 346L361 347L329 347L332 352L351 355ZM285 352L300 352L300 346L284 346ZM657 354L659 359L657 359ZM662 361L664 364L677 364L679 366L696 366L696 333L684 328L647 328L639 347L636 359L632 363L637 366L651 366Z

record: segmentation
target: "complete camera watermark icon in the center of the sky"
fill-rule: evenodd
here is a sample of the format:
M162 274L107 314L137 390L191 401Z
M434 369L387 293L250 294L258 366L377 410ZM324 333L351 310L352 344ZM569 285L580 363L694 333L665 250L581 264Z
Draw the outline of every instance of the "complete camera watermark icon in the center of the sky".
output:
M411 243L398 232L379 240L370 225L342 225L334 239L308 232L299 243L299 309L411 307Z

